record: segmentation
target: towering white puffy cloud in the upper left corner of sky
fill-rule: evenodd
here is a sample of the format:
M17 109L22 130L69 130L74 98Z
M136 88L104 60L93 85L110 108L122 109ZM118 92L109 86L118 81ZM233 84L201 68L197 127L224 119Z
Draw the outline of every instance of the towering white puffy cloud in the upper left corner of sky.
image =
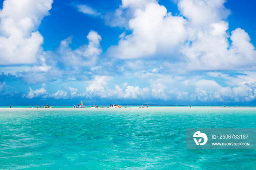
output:
M44 38L37 31L53 0L5 0L0 11L0 65L33 64Z

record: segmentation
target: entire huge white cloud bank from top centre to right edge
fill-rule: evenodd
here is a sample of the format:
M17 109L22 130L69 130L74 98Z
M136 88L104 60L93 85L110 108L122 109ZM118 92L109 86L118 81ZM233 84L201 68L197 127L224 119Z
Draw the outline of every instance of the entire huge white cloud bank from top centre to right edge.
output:
M166 69L176 72L255 69L256 51L248 33L237 28L229 35L226 18L230 10L225 2L178 0L180 16L174 16L156 0L122 0L114 16L131 32L123 32L108 54L119 59L164 56ZM114 24L116 20L112 26L121 26ZM142 68L136 64L143 61L133 62L127 66Z

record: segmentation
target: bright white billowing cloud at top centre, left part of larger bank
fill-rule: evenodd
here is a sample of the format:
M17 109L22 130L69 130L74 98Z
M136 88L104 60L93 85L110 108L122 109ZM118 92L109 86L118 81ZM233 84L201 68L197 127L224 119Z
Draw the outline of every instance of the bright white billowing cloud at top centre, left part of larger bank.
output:
M131 59L152 56L158 49L174 48L187 36L180 16L172 16L154 0L123 0L121 8L133 12L128 28L132 34L120 36L117 46L108 52L116 58Z

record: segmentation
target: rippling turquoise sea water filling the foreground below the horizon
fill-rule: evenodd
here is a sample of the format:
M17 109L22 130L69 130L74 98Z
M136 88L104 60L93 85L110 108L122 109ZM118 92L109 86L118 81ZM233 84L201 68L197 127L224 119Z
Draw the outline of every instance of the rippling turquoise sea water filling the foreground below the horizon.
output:
M0 169L256 169L255 149L186 149L186 128L256 128L256 108L0 109Z

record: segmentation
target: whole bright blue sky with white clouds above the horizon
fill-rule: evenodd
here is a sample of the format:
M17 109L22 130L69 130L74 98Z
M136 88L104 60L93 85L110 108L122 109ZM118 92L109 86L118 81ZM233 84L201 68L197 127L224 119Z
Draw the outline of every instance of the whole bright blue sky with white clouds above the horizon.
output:
M256 105L254 1L0 2L0 105Z

